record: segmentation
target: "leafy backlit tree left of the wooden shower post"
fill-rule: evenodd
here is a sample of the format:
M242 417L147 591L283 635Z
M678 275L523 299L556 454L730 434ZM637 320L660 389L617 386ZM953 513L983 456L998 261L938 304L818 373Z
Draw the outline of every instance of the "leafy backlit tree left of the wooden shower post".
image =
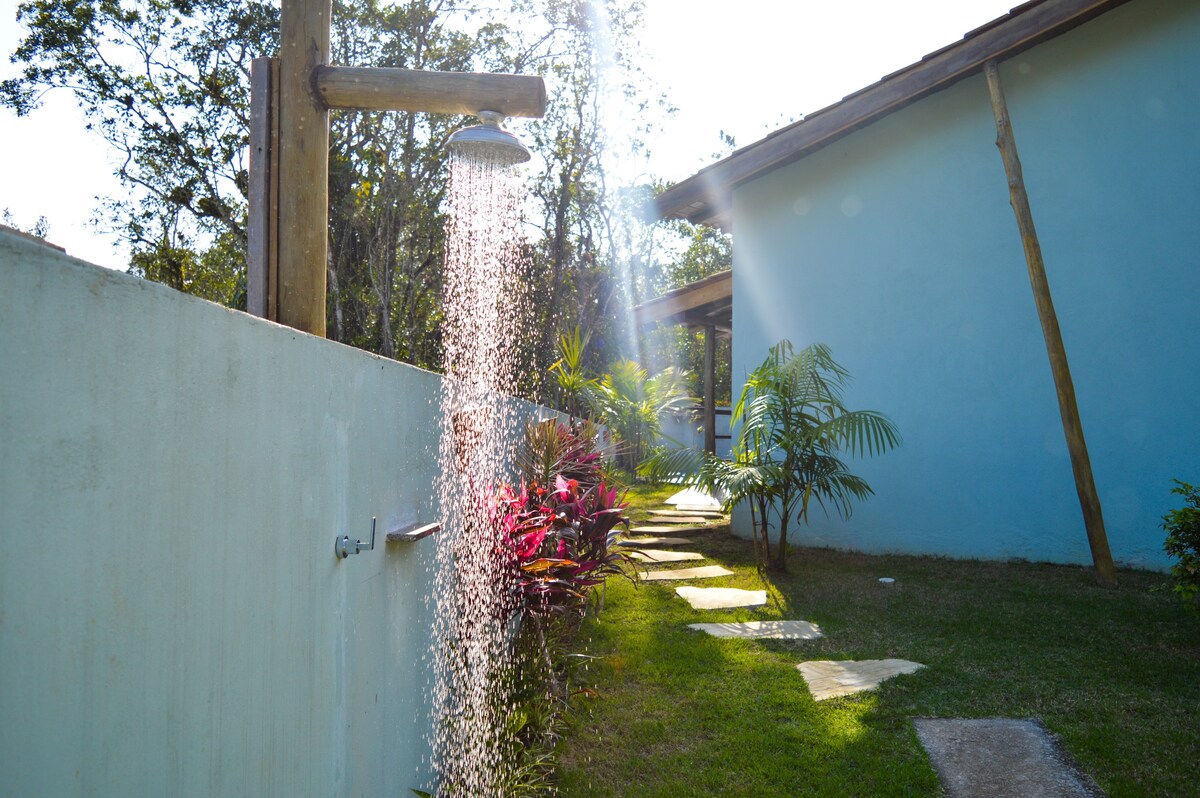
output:
M17 20L29 35L12 61L24 67L0 83L0 103L24 115L46 91L72 91L121 158L131 193L106 212L130 241L132 270L234 304L250 61L277 47L278 11L257 0L29 0Z

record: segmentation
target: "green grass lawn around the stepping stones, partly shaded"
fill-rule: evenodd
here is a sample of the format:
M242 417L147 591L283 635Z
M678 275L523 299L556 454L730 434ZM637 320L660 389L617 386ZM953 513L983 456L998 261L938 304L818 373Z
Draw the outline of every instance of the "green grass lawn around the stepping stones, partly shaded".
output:
M671 493L637 490L641 510ZM638 518L641 512L635 515ZM764 587L746 541L694 536L734 576L692 582ZM770 602L691 610L679 583L610 580L580 649L560 748L563 794L936 796L912 718L1038 718L1110 796L1200 796L1200 618L1166 576L1122 571L1094 586L1082 568L794 550L770 575ZM666 565L665 568L671 568ZM878 577L892 576L884 588ZM697 622L793 618L816 641L718 640ZM821 703L796 664L902 658L928 667Z

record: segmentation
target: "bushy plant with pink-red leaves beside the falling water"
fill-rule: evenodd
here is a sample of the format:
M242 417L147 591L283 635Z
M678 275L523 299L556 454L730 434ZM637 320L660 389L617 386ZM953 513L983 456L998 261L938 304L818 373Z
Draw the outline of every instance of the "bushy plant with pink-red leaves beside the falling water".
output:
M503 486L493 523L512 568L512 610L541 617L582 612L590 588L625 572L629 558L616 547L620 527L629 526L624 509L604 482L587 487L557 475L552 490Z

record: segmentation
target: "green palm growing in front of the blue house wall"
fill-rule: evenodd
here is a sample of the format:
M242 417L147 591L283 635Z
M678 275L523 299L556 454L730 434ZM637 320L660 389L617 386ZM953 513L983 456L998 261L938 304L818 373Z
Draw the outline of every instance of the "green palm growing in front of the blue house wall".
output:
M689 473L701 486L725 494L726 508L748 502L763 560L787 569L792 520L806 523L814 500L826 511L850 516L854 502L874 494L841 457L875 455L900 444L900 433L874 410L850 410L842 391L850 373L823 343L794 352L784 340L750 373L733 407L737 438L730 460L692 450L665 452L648 474ZM774 553L772 520L778 521Z

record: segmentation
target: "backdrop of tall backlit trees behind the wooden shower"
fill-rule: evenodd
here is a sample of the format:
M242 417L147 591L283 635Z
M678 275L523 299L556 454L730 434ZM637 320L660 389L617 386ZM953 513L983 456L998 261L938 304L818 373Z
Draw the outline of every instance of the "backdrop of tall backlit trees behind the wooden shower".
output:
M593 367L623 338L617 275L628 260L631 200L604 170L604 121L610 98L641 102L644 83L632 58L640 10L637 0L334 5L337 62L546 76L551 113L524 133L540 156L524 226L530 278L522 287L536 319L518 355L539 382L562 332L578 325L593 334ZM250 62L278 47L276 5L25 0L17 18L28 30L13 55L22 72L0 84L0 103L25 114L44 91L73 92L91 130L120 154L128 193L108 200L103 214L131 245L131 271L238 306ZM464 121L331 115L330 337L440 365L444 144ZM532 395L540 385L527 388Z

